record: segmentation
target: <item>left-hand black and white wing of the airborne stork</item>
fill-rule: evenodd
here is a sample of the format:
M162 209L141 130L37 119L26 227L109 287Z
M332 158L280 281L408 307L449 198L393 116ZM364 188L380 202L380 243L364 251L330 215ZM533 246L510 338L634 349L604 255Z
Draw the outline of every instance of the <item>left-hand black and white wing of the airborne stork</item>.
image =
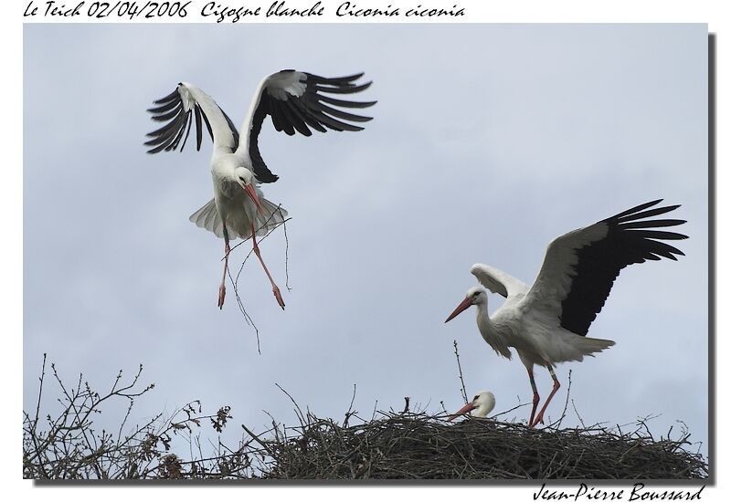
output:
M233 122L216 101L196 86L181 82L173 92L157 99L154 104L157 106L147 111L153 114L153 120L165 124L160 129L147 133L152 138L144 143L150 147L148 153L170 152L177 150L178 145L180 152L183 152L194 118L196 150L200 150L203 139L202 121L206 122L208 134L215 147L226 148L228 152L235 152L238 148L238 131Z

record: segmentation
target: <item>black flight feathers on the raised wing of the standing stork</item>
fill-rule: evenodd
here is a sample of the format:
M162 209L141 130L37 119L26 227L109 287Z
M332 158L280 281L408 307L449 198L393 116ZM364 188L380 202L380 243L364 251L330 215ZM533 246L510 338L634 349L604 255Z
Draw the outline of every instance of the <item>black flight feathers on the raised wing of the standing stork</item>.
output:
M659 204L662 199L641 204L599 223L609 226L607 235L588 246L577 249L578 263L567 298L561 303L561 326L577 335L586 336L588 328L609 297L620 270L633 263L677 259L683 252L664 242L653 239L678 240L687 235L652 230L658 226L682 225L684 220L643 220L665 214L679 207L671 205L650 211L645 209Z

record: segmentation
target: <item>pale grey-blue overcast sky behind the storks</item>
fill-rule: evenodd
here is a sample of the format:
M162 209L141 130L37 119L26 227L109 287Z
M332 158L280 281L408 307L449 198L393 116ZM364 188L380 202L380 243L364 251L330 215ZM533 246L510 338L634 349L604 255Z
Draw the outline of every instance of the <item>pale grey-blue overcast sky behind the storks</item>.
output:
M200 399L230 404L236 434L264 430L262 410L294 424L275 382L320 416L342 418L354 384L363 416L404 396L455 410L458 340L467 392L491 390L501 412L530 401L524 366L484 343L473 312L444 324L476 284L471 265L530 283L552 238L664 198L683 204L686 256L622 271L589 329L616 346L559 365L547 415L572 370L585 424L660 415L653 434L683 421L707 452L705 25L26 25L24 47L26 409L48 352L102 388L142 362L156 387L138 422ZM222 241L188 221L212 196L210 141L157 155L142 143L158 127L145 109L177 82L238 125L282 68L365 71L358 98L378 103L365 131L262 130L281 176L262 189L291 215L291 291L280 229L261 250L286 311L255 261L239 280L259 354L230 285L216 306ZM536 382L546 397L547 371Z

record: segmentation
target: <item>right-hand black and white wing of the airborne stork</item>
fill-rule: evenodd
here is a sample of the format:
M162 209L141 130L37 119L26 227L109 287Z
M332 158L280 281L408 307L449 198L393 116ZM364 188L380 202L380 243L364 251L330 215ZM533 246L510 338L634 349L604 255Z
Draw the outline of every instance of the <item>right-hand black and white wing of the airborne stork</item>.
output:
M371 117L356 115L342 109L359 109L373 106L376 101L351 101L334 98L330 95L347 95L368 89L371 82L356 84L363 73L347 77L323 78L285 69L264 78L251 101L249 115L241 127L244 136L238 146L243 149L251 161L251 165L260 183L277 181L278 176L272 174L261 158L259 151L259 133L261 124L269 115L274 128L289 135L300 132L311 136L312 130L361 131L363 127L355 123L366 122ZM355 123L354 123L355 122Z

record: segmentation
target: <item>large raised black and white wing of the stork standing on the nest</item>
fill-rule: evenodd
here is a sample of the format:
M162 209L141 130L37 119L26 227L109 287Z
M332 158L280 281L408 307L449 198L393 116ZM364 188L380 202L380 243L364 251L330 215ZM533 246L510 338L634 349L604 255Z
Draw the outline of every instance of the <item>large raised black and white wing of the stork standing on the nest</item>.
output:
M687 235L656 229L682 225L685 220L645 219L679 207L648 209L660 202L662 199L632 207L557 237L548 246L543 266L524 301L531 309L556 316L562 328L586 336L622 268L683 255L662 241L686 239Z

